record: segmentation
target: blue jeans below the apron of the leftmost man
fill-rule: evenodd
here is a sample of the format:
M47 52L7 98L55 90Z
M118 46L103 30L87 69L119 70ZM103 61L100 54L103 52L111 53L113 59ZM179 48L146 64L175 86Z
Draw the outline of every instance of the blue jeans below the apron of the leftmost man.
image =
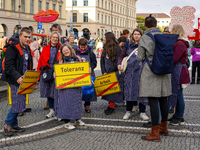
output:
M12 107L10 108L5 123L10 125L11 127L18 126L17 120L18 113L12 113Z

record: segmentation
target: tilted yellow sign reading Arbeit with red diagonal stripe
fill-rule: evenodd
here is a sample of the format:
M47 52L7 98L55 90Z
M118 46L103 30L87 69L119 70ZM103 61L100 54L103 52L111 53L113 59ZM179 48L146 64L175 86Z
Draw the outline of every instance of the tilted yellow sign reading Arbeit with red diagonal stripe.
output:
M121 92L115 72L96 77L94 89L97 96Z

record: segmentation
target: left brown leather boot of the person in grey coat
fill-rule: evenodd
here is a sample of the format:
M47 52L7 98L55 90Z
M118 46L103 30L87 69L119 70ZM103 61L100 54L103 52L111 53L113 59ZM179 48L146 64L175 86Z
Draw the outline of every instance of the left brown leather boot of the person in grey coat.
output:
M155 126L155 127L152 126L151 133L147 136L142 136L142 139L147 141L159 142L160 141L159 131L160 131L160 126Z

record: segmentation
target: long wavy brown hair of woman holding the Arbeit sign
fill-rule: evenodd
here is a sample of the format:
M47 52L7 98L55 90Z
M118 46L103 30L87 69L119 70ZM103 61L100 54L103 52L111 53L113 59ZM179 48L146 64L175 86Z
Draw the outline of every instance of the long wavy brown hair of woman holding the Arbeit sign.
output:
M112 32L107 32L105 37L106 43L103 46L102 58L105 58L105 56L108 55L109 60L114 62L118 42L116 41L115 35Z

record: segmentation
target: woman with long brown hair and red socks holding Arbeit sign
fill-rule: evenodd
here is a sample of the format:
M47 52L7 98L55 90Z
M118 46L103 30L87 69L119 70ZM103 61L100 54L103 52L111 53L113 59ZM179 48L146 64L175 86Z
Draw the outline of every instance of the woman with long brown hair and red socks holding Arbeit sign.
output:
M122 91L124 76L123 74L119 74L117 69L117 61L121 54L121 48L118 46L115 35L112 32L107 32L104 37L104 43L105 45L101 56L101 72L102 74L116 72L121 89L120 93L102 96L102 99L105 99L109 102L109 106L104 112L106 115L111 115L115 111L115 103L123 103Z

